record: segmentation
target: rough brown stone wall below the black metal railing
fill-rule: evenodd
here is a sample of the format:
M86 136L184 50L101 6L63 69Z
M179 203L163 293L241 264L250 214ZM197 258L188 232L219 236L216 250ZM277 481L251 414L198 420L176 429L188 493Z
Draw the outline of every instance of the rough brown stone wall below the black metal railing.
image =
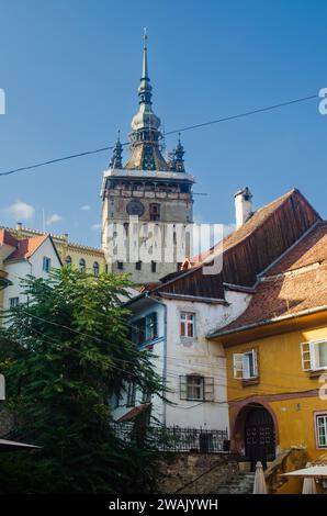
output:
M159 494L214 494L238 470L228 453L176 453L161 462Z

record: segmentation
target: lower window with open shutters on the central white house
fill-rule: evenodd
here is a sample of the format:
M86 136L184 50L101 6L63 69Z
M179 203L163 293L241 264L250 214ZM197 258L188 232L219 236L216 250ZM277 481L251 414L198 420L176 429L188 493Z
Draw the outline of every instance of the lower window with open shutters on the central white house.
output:
M214 401L214 379L200 374L180 377L180 399L200 402Z

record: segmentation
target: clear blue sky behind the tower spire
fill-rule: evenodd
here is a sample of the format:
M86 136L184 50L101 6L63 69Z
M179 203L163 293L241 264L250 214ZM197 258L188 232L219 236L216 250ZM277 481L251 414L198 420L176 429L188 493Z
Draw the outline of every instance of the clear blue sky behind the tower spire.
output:
M320 0L0 0L0 171L110 145L117 128L126 139L144 26L154 109L170 131L327 87L326 23ZM297 187L326 217L326 131L312 100L184 133L194 191L207 193L195 197L196 220L233 223L244 186L255 207ZM14 225L26 203L26 226L41 229L44 210L58 215L48 231L99 245L109 159L0 178L0 224Z

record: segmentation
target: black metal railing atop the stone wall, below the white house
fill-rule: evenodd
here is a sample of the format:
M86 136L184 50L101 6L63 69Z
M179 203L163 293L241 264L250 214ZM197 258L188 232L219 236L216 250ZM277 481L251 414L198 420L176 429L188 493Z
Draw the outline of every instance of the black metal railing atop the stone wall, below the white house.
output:
M187 451L217 453L229 451L228 431L208 430L204 428L180 428L166 426L150 426L136 431L133 423L113 423L112 427L119 439L125 444L142 436L146 445L157 448L159 451Z

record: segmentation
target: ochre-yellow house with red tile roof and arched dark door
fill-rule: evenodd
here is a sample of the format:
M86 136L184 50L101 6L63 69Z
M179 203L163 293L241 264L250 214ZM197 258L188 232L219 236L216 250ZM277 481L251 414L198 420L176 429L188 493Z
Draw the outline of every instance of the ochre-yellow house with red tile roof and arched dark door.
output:
M266 270L243 315L211 338L226 354L232 450L279 473L326 457L327 223ZM301 482L275 491L301 492Z

